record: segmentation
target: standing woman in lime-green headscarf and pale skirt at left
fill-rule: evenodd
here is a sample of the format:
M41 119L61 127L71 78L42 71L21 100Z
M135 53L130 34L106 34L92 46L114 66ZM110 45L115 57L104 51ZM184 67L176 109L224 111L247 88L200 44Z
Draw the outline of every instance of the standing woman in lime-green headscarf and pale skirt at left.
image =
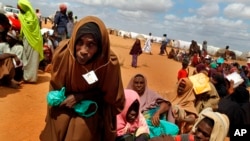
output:
M37 82L39 62L43 60L43 38L39 21L29 0L18 0L20 9L18 18L21 22L20 36L23 41L23 80Z

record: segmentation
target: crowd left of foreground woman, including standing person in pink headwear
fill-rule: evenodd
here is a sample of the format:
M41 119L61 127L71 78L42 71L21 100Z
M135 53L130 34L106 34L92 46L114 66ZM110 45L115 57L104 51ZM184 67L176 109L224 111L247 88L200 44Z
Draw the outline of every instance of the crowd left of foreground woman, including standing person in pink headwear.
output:
M23 83L36 83L38 70L46 71L54 50L63 39L70 38L75 21L65 4L59 5L53 32L42 34L42 15L28 0L19 0L20 14L0 13L1 36L0 84L19 89ZM17 18L21 28L10 18Z

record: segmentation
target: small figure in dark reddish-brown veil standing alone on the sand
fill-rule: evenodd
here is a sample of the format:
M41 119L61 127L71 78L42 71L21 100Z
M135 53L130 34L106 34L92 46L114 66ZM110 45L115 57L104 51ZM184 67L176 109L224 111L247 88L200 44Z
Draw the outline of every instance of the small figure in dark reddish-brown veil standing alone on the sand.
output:
M132 67L137 67L137 58L140 54L142 54L142 49L141 49L141 41L137 38L135 40L134 45L132 46L130 52L130 55L132 55Z

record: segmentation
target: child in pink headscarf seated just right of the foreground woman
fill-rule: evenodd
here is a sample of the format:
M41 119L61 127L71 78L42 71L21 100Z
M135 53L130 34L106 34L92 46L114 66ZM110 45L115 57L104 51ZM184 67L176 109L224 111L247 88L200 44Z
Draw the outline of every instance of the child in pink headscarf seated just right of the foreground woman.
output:
M123 111L117 115L116 141L148 140L149 128L145 118L140 112L139 95L134 90L125 89L125 98L125 107Z

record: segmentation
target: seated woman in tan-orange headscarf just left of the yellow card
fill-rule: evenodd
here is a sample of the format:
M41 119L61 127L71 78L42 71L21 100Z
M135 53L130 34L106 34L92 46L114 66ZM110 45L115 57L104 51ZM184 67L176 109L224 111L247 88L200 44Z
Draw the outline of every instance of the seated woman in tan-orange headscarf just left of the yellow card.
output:
M188 133L198 117L195 105L193 84L189 78L181 78L177 84L177 95L172 101L173 114L180 133Z

